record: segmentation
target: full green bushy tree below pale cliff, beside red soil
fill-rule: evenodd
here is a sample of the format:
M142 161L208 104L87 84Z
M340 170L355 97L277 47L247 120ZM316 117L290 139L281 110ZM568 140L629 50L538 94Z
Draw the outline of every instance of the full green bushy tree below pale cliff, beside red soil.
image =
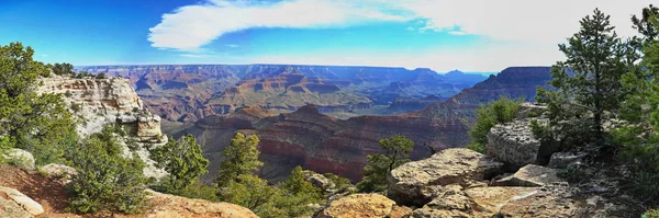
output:
M68 209L85 214L136 214L144 209L145 164L136 154L122 157L109 128L76 146L70 160L77 173L67 184L71 193Z

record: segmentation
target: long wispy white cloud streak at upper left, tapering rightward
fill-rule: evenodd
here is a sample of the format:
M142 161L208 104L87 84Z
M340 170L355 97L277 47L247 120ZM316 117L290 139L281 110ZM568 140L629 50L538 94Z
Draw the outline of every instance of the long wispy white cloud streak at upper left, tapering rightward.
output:
M246 1L213 0L164 14L163 21L149 28L148 41L157 48L194 50L223 34L250 27L322 27L365 20L405 19L348 1L295 0L249 4Z

